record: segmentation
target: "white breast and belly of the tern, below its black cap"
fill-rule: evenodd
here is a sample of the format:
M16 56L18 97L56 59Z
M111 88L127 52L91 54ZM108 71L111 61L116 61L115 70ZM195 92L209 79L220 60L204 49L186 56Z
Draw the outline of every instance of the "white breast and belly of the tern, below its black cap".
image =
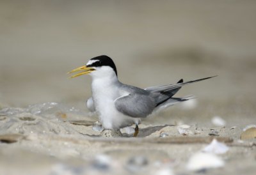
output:
M95 110L99 114L99 121L105 129L118 130L120 127L139 123L140 119L125 116L115 107L115 99L123 96L124 91L118 81L115 72L106 71L108 67L102 67L92 72L92 98Z

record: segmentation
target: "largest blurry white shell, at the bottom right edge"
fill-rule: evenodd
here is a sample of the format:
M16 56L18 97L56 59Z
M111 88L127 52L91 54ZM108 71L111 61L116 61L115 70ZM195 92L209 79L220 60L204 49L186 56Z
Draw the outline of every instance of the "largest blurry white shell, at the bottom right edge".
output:
M202 171L224 166L223 160L211 153L195 153L189 158L187 169L189 171Z

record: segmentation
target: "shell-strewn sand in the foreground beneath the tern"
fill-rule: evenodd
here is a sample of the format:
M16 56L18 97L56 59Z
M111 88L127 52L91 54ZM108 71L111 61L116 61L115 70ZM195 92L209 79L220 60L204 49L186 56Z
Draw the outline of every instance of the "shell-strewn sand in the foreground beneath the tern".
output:
M106 137L109 131L97 129L92 117L57 103L3 109L0 117L1 174L255 172L255 132L241 136L240 126L141 124L136 138L132 128L123 129L122 137ZM205 149L213 139L225 145ZM196 154L203 157L190 160Z

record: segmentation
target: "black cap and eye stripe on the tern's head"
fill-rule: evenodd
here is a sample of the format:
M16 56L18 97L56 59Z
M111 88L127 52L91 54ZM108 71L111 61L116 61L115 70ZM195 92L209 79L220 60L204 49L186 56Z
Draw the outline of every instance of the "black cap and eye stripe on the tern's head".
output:
M113 68L113 70L116 73L116 77L117 77L117 71L116 71L115 63L110 57L108 57L108 56L97 56L97 57L93 57L90 60L99 60L99 61L95 61L91 65L87 65L87 66L89 66L89 67L109 66L109 67Z

